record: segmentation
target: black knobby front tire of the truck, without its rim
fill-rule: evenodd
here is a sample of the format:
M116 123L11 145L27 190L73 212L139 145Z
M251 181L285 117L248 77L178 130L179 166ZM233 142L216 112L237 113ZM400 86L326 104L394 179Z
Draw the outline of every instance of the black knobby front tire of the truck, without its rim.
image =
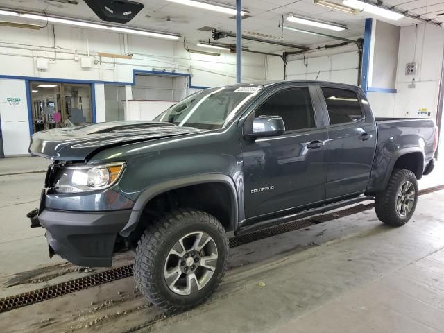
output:
M205 287L190 295L178 295L164 278L165 261L181 237L196 231L206 232L214 239L218 250L216 269ZM133 262L135 284L153 305L169 313L187 311L210 298L223 278L227 258L228 238L214 216L198 210L176 210L154 221L139 239Z

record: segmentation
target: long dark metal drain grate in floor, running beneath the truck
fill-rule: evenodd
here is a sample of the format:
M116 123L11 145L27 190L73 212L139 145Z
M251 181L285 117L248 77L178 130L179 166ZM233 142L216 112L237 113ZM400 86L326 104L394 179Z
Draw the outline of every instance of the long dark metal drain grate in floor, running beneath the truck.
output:
M423 194L429 194L435 191L439 191L441 189L444 189L444 185L430 187L428 189L422 189L419 191L419 195L421 196ZM296 220L282 225L276 225L274 227L251 232L249 234L243 234L241 236L234 237L229 240L230 248L235 248L236 246L241 246L243 244L251 243L253 241L258 241L259 239L272 237L277 234L284 234L285 232L307 228L311 225L323 223L326 221L331 221L334 219L339 219L344 216L357 214L359 212L370 210L371 208L373 208L373 203L369 203L366 205L359 204L350 208L346 208L345 210L339 210L337 212L332 212L328 214L316 215L309 219ZM49 300L51 298L56 298L58 296L66 295L67 293L74 293L75 291L80 291L82 289L98 286L99 284L104 284L115 280L128 278L132 275L133 275L133 266L131 265L122 266L122 267L112 268L108 271L104 271L101 273L85 276L85 278L78 278L76 280L62 282L59 284L54 284L53 286L37 289L34 291L29 291L28 293L21 293L15 296L0 298L0 313L10 311L12 309L17 309L19 307L24 307L26 305L31 305L37 302L42 302L44 300Z

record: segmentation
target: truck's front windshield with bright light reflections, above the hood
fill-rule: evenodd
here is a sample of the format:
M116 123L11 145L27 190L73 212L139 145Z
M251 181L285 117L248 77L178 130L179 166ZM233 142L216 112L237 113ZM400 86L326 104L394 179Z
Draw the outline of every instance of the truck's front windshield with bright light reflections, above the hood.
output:
M261 85L205 89L171 106L153 120L207 130L222 128L260 89Z

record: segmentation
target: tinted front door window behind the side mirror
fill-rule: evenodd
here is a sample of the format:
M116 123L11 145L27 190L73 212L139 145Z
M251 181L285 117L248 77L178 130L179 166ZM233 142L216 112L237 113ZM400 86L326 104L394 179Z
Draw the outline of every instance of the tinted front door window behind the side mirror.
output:
M276 92L257 108L255 115L282 117L286 131L316 127L308 88Z

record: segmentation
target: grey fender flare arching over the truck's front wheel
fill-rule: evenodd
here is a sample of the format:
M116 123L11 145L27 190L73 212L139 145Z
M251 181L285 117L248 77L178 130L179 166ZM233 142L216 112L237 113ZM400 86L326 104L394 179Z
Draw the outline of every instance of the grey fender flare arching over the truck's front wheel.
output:
M196 175L185 178L178 178L175 180L169 180L167 182L156 184L144 190L142 194L139 195L139 198L137 198L133 207L133 211L131 212L130 219L120 232L121 236L128 237L130 233L137 228L137 225L142 218L144 208L146 207L146 205L148 205L148 203L150 203L151 200L153 200L157 196L167 194L169 191L185 189L187 187L194 187L196 185L211 184L223 185L225 189L228 190L228 193L230 194L230 214L228 225L225 225L225 228L228 231L235 230L239 221L239 200L234 181L232 180L232 178L230 178L230 176L225 174L209 173L205 175Z

